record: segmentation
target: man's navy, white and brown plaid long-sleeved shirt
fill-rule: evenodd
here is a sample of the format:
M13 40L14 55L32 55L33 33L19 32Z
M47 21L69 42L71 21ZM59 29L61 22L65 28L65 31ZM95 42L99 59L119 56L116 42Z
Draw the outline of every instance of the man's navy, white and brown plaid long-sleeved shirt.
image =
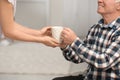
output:
M67 60L89 64L85 80L120 80L120 18L103 22L93 25L85 40L77 38L62 50Z

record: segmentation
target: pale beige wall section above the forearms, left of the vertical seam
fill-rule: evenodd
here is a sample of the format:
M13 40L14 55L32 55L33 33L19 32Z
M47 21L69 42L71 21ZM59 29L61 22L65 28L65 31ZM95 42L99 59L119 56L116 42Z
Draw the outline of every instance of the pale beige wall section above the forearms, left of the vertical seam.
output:
M35 29L49 23L49 0L17 0L16 21Z

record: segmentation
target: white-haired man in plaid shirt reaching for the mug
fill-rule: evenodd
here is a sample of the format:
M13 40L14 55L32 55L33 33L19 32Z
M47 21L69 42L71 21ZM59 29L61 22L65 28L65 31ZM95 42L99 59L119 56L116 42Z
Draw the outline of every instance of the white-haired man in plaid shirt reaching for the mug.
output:
M98 0L97 12L102 19L90 28L84 41L71 29L63 30L63 55L89 65L84 80L120 80L120 0Z

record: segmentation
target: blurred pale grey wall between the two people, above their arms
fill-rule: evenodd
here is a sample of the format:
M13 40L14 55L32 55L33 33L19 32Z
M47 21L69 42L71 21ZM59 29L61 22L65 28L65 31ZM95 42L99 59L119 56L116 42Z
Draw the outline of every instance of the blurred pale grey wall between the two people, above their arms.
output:
M100 18L96 10L97 0L18 0L16 20L32 28L70 27L83 37Z

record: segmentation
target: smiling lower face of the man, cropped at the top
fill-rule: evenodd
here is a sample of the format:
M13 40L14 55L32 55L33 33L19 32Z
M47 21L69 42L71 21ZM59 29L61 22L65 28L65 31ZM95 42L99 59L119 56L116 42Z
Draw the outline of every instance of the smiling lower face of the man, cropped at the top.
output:
M98 0L98 9L97 12L101 15L104 14L113 14L116 10L115 0Z

